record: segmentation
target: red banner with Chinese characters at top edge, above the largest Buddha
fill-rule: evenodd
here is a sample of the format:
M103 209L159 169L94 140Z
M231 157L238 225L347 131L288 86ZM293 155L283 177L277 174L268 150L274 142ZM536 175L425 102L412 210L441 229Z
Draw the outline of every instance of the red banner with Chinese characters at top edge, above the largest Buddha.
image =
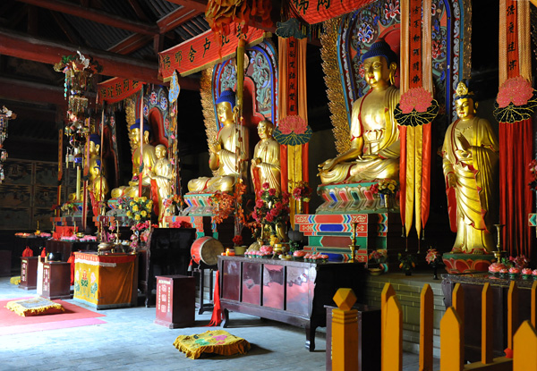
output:
M374 0L292 0L291 12L310 24L327 21L354 12Z

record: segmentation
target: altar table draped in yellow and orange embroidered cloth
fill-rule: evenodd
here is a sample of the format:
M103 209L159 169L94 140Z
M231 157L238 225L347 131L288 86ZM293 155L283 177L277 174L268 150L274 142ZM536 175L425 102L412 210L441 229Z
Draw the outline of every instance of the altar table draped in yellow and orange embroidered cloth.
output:
M97 309L136 306L138 256L74 253L74 296Z

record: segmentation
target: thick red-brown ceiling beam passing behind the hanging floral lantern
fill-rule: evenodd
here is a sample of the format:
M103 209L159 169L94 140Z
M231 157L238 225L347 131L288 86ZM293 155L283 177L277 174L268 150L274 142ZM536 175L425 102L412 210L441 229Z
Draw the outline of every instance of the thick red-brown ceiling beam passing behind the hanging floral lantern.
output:
M103 66L102 75L162 84L162 81L158 80L158 63L143 62L124 55L115 55L87 47L56 44L0 29L0 54L55 64L62 59L62 56L72 55L77 50L98 61ZM182 89L200 90L200 81L194 78L180 78L179 84Z

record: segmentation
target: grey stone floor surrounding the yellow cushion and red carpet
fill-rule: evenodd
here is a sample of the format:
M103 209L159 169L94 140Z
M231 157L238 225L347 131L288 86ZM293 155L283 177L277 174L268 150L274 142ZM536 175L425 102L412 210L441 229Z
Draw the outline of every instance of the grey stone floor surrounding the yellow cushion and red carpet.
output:
M36 296L0 278L0 299ZM72 302L72 300L67 300ZM81 305L80 303L75 303ZM178 335L203 333L211 313L196 315L196 326L170 330L153 324L155 308L99 310L102 325L21 333L0 337L0 370L323 370L325 334L317 333L316 350L304 348L303 329L259 317L230 314L229 333L251 343L248 354L185 358L175 350ZM321 329L324 330L324 329ZM405 353L404 370L418 369L418 356ZM439 368L439 360L435 360ZM367 370L365 370L367 371Z

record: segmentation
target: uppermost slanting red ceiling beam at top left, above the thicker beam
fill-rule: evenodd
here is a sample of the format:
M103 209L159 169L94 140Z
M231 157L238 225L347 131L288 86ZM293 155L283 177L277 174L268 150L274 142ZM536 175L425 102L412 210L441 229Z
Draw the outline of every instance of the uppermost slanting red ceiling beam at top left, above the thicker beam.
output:
M98 11L78 4L72 4L64 0L18 0L21 3L32 4L55 12L71 14L89 21L106 24L116 29L129 30L145 35L155 36L158 27L141 21L131 21L110 13Z

